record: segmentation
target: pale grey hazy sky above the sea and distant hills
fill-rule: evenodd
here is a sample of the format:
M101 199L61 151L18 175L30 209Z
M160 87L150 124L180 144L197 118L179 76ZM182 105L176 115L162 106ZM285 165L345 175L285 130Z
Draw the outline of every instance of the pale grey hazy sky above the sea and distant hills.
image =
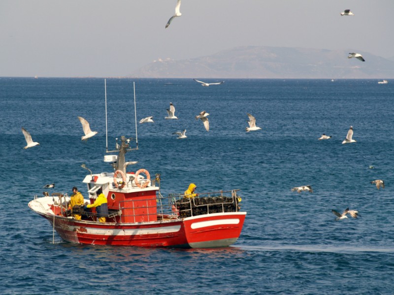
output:
M236 46L394 56L394 0L0 0L0 76L125 76ZM355 16L340 16L351 9Z

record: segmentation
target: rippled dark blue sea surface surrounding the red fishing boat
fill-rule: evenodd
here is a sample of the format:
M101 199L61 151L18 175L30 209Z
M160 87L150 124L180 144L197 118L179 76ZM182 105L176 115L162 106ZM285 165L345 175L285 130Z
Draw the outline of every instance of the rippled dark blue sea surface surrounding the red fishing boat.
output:
M71 193L85 163L111 171L104 79L0 78L1 294L393 294L394 82L107 79L108 148L135 138L132 168L161 192L240 189L237 242L218 249L75 245L28 207L45 184ZM215 82L215 81L212 81ZM179 120L165 120L172 102ZM195 116L209 115L205 131ZM247 133L247 113L260 131ZM77 116L99 133L81 141ZM39 146L24 150L21 127ZM353 126L356 143L341 144ZM186 129L186 139L172 134ZM318 140L326 133L332 138ZM374 168L369 169L372 165ZM129 166L129 169L131 167ZM383 179L386 188L370 182ZM291 192L311 185L313 193ZM52 192L52 191L50 191ZM331 210L358 210L335 221Z

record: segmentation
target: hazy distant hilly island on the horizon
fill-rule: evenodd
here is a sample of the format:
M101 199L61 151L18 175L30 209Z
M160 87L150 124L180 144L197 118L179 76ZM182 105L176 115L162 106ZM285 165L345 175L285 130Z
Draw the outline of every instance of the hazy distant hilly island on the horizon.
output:
M359 52L365 59L348 59ZM241 46L186 60L165 59L132 72L136 78L389 79L394 61L361 50Z

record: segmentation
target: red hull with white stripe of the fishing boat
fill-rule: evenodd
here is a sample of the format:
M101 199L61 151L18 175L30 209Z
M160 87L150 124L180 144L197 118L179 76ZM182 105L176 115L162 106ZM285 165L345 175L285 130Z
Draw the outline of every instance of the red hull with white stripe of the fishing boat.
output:
M38 214L70 243L177 248L230 246L238 239L246 216L246 212L230 212L159 222L116 224Z

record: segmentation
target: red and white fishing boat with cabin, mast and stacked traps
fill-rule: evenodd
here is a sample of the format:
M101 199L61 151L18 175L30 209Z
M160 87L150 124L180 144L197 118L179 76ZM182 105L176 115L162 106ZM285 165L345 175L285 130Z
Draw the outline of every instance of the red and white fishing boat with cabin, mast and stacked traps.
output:
M160 175L150 179L145 169L128 172L135 162L125 162L130 139L121 137L118 155L104 156L104 162L114 172L87 175L83 182L88 187L93 203L101 189L107 198L106 222L97 221L97 212L80 206L81 220L67 210L69 197L44 192L35 196L29 207L46 218L60 237L67 242L92 245L127 245L143 247L211 248L226 247L239 237L246 212L240 212L238 190L199 194L160 193ZM85 165L82 165L86 168ZM89 170L89 169L88 169ZM143 176L142 174L145 174Z

